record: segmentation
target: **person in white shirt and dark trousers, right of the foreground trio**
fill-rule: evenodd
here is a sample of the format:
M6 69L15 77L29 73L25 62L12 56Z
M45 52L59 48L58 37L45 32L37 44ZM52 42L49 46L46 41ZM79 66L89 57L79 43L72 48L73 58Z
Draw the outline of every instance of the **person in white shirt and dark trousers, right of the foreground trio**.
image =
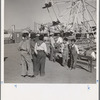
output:
M35 44L35 53L37 55L37 68L35 70L35 76L40 73L41 76L45 75L45 61L47 54L47 46L43 42L43 35L39 36L39 41Z

